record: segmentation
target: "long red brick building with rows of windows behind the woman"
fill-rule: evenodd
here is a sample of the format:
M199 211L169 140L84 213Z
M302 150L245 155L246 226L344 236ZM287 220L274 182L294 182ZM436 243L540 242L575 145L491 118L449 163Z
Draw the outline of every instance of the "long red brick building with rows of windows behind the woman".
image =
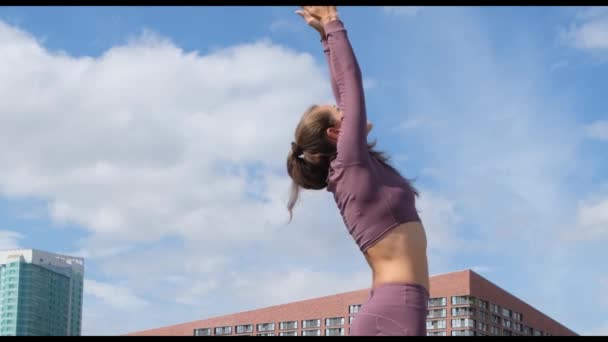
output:
M459 271L431 277L428 335L576 335L479 274ZM348 335L369 290L335 294L129 335Z

